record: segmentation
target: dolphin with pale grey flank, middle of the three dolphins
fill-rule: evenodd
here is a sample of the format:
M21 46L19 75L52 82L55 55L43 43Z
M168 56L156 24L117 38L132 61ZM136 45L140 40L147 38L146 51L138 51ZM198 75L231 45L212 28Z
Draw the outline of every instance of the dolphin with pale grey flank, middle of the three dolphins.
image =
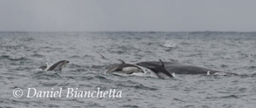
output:
M124 74L132 74L135 72L143 72L142 68L140 68L139 66L136 66L135 64L127 64L125 63L123 60L118 59L119 61L121 61L121 64L112 64L111 66L108 66L106 69L108 69L108 71L106 71L106 73L124 73Z

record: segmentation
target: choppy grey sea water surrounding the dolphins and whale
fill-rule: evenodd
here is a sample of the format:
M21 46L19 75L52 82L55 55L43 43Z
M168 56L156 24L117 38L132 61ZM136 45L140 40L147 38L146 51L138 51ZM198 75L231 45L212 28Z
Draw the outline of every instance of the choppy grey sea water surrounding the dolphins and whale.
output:
M107 57L102 59L100 54ZM240 76L176 75L174 79L103 74L102 66L149 60L230 71ZM36 71L69 60L61 72ZM1 32L1 107L254 108L256 33L241 32ZM26 88L116 89L121 98L26 98ZM24 90L14 98L13 90Z

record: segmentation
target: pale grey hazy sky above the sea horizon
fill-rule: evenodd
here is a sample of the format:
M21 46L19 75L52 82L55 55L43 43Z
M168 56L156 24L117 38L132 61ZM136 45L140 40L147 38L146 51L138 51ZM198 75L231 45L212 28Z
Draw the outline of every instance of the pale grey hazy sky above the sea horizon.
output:
M256 31L256 0L0 0L0 30Z

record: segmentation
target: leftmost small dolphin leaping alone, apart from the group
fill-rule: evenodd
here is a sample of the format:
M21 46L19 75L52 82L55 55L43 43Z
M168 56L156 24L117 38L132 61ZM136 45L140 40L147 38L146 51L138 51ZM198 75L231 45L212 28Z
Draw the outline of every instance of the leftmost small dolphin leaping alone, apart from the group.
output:
M49 64L44 65L44 66L40 66L38 69L42 70L42 71L61 71L63 67L66 66L66 64L68 64L69 61L67 60L61 60L55 64L52 64L51 66Z

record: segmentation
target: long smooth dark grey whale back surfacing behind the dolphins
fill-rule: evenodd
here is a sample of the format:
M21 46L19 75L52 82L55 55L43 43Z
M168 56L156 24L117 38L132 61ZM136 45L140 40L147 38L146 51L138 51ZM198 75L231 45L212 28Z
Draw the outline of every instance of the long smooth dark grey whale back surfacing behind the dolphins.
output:
M188 64L179 64L176 62L157 62L157 61L148 61L137 63L138 65L150 66L151 64L164 64L167 71L175 72L176 74L206 74L206 75L236 75L235 73L225 72L225 71L215 71L203 67L197 67Z

